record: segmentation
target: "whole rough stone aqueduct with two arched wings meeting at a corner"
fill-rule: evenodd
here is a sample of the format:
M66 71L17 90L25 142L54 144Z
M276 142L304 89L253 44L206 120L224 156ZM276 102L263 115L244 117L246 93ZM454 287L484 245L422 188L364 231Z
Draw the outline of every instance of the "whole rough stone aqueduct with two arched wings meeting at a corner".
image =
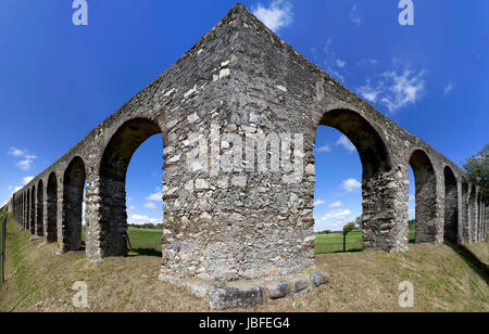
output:
M241 170L212 170L212 163L210 172L190 170L191 143L212 138L213 125L221 136L242 138L303 133L303 175L292 181L287 171L254 171L248 168L256 164L254 154ZM326 280L314 267L319 126L341 131L360 154L366 249L408 251L410 165L417 243L471 243L487 235L487 202L457 165L306 61L240 4L16 192L14 216L63 252L79 251L86 183L87 257L127 255L126 170L136 149L162 133L161 279L209 296L215 308L281 297Z

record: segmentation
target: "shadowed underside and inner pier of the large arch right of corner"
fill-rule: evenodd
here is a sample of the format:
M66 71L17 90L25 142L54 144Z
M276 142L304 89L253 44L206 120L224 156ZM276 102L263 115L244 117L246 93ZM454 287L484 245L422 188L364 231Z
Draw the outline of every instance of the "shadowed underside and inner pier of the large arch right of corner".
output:
M391 201L386 201L380 189L387 183L386 172L392 169L390 154L378 131L359 113L333 110L323 114L318 126L339 130L356 147L362 163L362 234L366 249L386 252L405 251L405 245L392 242L399 235ZM402 228L401 228L402 229ZM408 221L404 229L408 231ZM389 234L389 237L385 237Z

